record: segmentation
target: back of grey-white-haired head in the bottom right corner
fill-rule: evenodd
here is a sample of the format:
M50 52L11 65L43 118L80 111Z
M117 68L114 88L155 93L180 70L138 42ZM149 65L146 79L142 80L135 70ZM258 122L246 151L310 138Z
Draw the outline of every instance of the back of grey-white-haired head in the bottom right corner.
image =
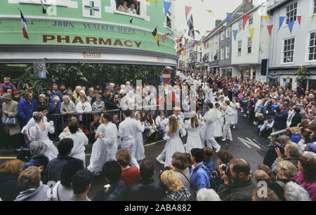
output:
M285 185L284 197L287 201L310 201L310 195L305 188L293 181Z

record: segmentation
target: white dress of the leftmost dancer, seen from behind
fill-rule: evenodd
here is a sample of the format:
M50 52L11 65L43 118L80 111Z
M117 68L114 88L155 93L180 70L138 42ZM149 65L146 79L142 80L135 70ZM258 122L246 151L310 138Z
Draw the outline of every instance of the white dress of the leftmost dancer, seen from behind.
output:
M58 155L58 149L53 144L53 141L51 141L48 138L48 132L53 134L55 132L55 128L51 126L51 123L44 123L45 124L45 130L42 131L38 124L36 124L34 127L31 127L29 129L29 136L31 137L31 141L42 141L46 144L46 157L49 160L52 160L54 158L57 158Z

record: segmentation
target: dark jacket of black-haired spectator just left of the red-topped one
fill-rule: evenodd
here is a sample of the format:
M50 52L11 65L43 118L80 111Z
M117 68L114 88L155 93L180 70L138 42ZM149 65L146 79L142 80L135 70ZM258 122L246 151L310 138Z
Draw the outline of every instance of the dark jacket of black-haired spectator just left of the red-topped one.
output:
M93 198L93 201L121 201L127 186L124 181L117 181L110 186L109 190L100 190Z

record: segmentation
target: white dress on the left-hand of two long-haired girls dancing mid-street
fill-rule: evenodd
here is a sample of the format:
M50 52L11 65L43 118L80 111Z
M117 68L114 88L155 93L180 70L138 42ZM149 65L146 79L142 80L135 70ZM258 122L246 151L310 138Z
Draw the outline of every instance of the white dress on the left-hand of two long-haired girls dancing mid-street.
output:
M179 133L181 137L185 136L185 130L182 127L179 127L176 133L170 134L169 126L166 127L166 135L164 139L166 140L166 161L164 162L164 166L171 165L172 155L175 152L185 153L185 148L183 146L183 142L179 137Z

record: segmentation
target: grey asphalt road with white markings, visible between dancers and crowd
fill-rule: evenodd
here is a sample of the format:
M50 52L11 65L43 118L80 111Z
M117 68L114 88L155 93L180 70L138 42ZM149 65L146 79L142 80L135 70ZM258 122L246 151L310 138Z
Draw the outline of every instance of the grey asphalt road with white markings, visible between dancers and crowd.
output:
M183 137L183 144L186 143L186 138ZM239 113L238 124L235 129L232 129L232 139L233 141L226 140L225 142L218 139L218 144L220 144L222 151L230 151L234 158L245 158L251 165L251 170L256 172L258 165L263 163L263 158L265 152L268 150L268 144L270 140L264 137L258 137L256 132L256 127L252 125L251 120L242 116ZM164 168L164 165L157 162L157 156L164 149L166 141L156 141L154 143L145 143L145 159L152 160L155 165L155 175L154 180L159 181L158 175L159 171ZM91 156L91 145L86 148L86 165L88 166ZM16 153L12 150L0 151L0 165L8 159L15 159ZM213 162L217 166L216 154L213 156ZM106 184L105 180L98 176L93 180L91 190L88 193L88 197L93 198L98 190L103 189Z

